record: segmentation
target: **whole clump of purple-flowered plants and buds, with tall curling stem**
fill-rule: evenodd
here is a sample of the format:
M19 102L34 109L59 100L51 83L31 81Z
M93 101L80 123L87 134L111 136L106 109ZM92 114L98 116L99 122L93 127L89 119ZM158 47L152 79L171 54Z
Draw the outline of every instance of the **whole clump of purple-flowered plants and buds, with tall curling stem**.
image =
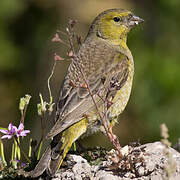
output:
M57 58L57 57L56 57ZM25 97L20 98L19 110L21 113L19 126L16 127L13 123L9 123L8 128L0 128L0 133L2 136L0 138L0 179L4 178L17 178L19 175L23 174L26 176L26 173L23 171L25 168L32 169L35 166L35 162L39 160L42 144L45 138L46 133L46 112L51 115L53 111L53 97L51 94L50 80L54 74L54 69L56 66L57 59L55 58L54 65L51 71L51 74L47 81L48 92L49 92L49 102L43 100L42 94L39 94L40 103L37 104L37 114L41 119L41 139L39 143L36 140L30 138L28 155L25 153L24 148L22 147L22 141L24 137L30 133L30 130L24 129L24 120L26 116L26 111L28 104L30 102L31 96L25 95ZM5 151L3 139L13 139L12 148L11 148L11 159L10 162L7 162L5 159ZM24 158L22 158L22 156ZM24 162L25 160L25 162Z

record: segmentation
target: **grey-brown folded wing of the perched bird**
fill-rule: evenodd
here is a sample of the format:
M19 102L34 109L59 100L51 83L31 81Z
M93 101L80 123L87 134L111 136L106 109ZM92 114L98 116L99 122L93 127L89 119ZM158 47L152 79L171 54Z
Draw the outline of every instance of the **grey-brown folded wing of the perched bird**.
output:
M103 50L106 50L105 47ZM117 74L117 72L118 77L124 81L122 77L127 74L128 69L127 56L115 51L109 54L104 53L103 56L100 56L96 51L94 51L92 55L88 56L87 53L85 53L85 55L87 57L79 56L80 65L92 93L98 92L101 88L106 88L104 87L105 84L109 86L109 84L105 82L110 83L109 80L113 77L113 74ZM81 59L84 61L81 61ZM107 61L107 59L109 60ZM93 62L93 60L98 60L99 62L96 63ZM68 69L57 103L57 121L48 133L47 138L54 137L72 124L80 121L82 116L85 115L85 112L94 106L87 88L81 86L84 83L84 79L80 78L82 74L78 72L78 68L77 64L73 64L72 62ZM107 79L109 80L106 81Z

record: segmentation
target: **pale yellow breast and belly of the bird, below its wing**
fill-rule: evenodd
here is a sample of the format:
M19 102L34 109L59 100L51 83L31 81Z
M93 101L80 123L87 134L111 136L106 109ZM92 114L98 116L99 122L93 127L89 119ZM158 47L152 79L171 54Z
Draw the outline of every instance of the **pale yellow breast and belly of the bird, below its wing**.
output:
M123 112L125 109L132 88L132 81L133 81L133 74L134 74L134 62L131 53L129 52L129 59L128 59L128 78L123 85L123 87L117 91L114 98L112 99L113 104L110 106L107 112L107 120L110 121L111 125L114 125L118 119L118 116ZM99 111L102 113L104 111L104 105L99 107ZM88 112L88 129L86 135L92 134L98 130L104 130L101 121L99 120L98 113L95 109Z

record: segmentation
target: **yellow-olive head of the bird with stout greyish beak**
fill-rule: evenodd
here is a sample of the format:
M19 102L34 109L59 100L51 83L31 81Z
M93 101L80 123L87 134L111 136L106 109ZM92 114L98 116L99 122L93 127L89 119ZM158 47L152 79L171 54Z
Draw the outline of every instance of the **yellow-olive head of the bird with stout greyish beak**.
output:
M123 9L110 9L99 14L93 21L89 34L117 42L127 38L127 33L144 20Z

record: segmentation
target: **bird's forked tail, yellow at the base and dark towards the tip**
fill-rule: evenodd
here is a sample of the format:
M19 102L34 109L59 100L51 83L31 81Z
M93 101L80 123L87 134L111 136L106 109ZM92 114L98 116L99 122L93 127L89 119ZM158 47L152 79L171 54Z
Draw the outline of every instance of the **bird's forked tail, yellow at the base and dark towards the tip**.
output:
M61 166L66 154L73 142L75 142L87 130L88 120L83 118L68 129L53 138L51 145L42 155L35 169L30 173L31 177L40 176L45 170L53 176Z

